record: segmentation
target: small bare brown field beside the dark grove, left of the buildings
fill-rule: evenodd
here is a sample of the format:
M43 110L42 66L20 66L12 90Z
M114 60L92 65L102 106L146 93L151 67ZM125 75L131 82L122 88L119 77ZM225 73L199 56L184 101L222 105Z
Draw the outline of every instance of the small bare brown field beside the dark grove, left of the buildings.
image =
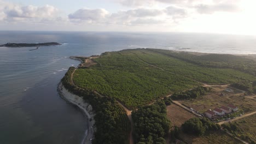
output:
M195 117L192 113L187 110L182 109L182 107L177 106L176 104L171 104L166 107L167 109L167 118L171 121L172 125L181 127L181 125L190 118Z

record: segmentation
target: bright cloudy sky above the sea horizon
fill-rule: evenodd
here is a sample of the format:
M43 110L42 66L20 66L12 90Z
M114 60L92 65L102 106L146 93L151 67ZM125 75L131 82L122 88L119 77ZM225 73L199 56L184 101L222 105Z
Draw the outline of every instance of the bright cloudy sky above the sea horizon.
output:
M0 31L256 35L255 0L0 0Z

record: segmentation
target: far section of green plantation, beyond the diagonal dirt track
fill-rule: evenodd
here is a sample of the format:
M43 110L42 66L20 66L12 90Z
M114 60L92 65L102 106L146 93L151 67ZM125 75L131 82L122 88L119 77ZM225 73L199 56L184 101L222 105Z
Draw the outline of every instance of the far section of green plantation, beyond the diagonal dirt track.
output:
M254 76L238 70L229 68L208 68L166 54L172 51L158 50L155 52L154 49L147 49L147 51L148 52L144 52L144 55L139 55L143 61L152 65L157 65L166 71L170 71L170 73L189 77L196 81L209 84L224 84L255 80ZM159 53L159 51L161 53Z

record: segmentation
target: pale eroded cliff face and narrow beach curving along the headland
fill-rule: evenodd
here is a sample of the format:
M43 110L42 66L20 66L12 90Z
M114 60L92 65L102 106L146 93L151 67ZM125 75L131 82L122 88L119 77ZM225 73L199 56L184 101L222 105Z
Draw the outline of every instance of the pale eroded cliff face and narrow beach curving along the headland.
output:
M94 132L96 131L96 128L94 128L95 113L93 113L92 111L92 106L84 102L83 98L79 97L78 95L68 92L67 89L62 85L62 82L59 83L57 90L62 99L66 100L68 103L71 103L79 107L79 109L82 110L83 113L85 114L86 118L88 119L87 121L88 125L87 125L87 130L85 130L85 135L81 143L82 144L91 143L92 142L91 140L94 139Z

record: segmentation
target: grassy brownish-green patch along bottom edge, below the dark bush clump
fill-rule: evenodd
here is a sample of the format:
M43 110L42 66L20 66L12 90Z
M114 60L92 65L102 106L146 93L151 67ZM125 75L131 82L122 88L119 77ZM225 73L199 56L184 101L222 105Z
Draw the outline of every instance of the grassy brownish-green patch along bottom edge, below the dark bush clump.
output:
M181 133L180 136L187 143L196 143L196 144L205 144L205 143L230 143L230 144L238 144L242 143L234 139L233 137L226 134L224 131L214 131L205 136L191 136L184 133Z

